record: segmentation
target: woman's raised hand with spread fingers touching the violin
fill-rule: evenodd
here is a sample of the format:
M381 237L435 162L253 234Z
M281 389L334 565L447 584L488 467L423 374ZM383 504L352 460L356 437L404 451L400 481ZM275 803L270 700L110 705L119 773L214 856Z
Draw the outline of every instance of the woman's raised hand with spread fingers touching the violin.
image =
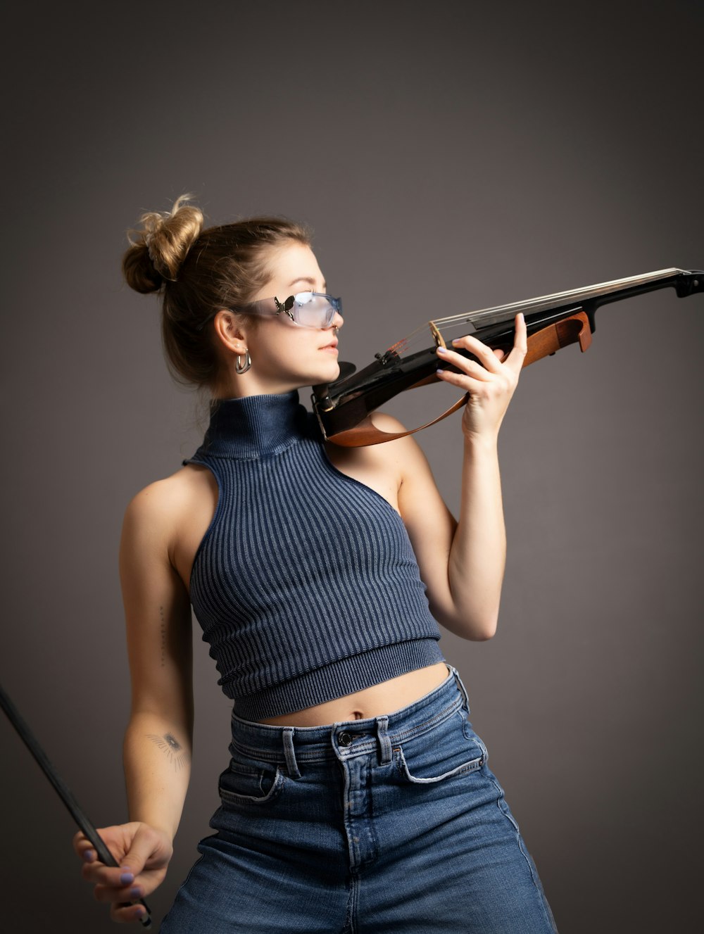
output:
M515 339L511 352L492 350L472 334L458 337L453 347L469 350L477 361L468 360L454 350L438 347L440 361L456 366L459 373L443 370L438 373L444 383L470 393L462 415L462 432L466 438L495 439L514 389L521 374L528 350L526 322L523 315L515 316ZM442 366L441 362L441 366Z

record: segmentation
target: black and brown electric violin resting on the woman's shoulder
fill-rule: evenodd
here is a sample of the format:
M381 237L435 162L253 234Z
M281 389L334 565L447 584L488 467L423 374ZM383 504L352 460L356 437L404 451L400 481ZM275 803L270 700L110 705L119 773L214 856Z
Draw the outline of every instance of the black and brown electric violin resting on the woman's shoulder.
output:
M584 353L591 344L595 313L600 305L668 287L674 288L679 298L704 291L704 271L660 269L643 276L614 279L584 289L428 321L387 350L374 354L374 361L359 373L353 363L341 362L340 376L334 383L313 387L313 410L323 437L345 447L378 445L420 432L457 412L467 402L469 393L442 415L407 432L381 432L371 418L375 409L399 392L440 382L435 375L437 347L446 347L457 337L473 334L488 347L508 353L514 346L514 318L522 312L528 331L524 366L570 344L578 343ZM453 349L476 360L467 350ZM443 361L443 366L458 373L458 368L447 361Z

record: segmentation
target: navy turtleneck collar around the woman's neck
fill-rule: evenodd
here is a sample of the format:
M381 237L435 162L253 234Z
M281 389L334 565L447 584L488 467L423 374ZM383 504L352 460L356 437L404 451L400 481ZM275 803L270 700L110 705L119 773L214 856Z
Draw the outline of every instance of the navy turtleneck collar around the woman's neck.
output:
M204 454L240 460L286 450L305 434L307 413L298 389L212 403Z

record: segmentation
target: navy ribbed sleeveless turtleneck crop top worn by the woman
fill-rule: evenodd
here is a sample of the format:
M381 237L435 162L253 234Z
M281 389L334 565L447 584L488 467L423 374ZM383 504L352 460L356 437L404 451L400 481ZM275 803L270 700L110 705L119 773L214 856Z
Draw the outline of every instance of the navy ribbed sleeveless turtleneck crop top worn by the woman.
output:
M184 463L218 481L190 600L238 715L289 714L443 660L401 517L331 465L297 391L218 403Z

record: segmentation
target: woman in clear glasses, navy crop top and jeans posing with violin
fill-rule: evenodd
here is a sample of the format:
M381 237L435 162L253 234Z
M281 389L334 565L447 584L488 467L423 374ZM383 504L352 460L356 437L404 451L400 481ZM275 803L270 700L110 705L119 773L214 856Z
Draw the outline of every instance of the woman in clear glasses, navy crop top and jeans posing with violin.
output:
M130 503L120 548L133 705L131 823L77 835L116 921L159 885L189 779L190 604L233 700L215 835L162 931L544 932L535 867L472 730L438 622L496 630L504 567L497 434L526 353L438 353L469 390L459 522L410 438L323 443L298 389L339 373L340 300L281 219L202 229L149 214L124 272L159 291L176 376L208 389L204 445ZM379 415L379 427L398 431Z

